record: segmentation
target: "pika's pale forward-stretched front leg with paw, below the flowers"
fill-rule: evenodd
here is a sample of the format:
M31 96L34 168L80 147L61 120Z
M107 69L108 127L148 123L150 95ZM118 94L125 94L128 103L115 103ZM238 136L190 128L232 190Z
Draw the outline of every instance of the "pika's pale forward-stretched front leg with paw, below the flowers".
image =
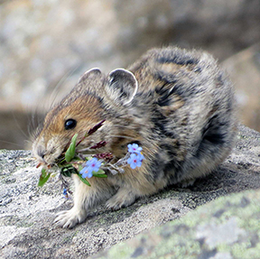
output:
M71 228L83 222L88 217L88 209L98 203L109 199L115 190L107 183L107 179L91 178L91 187L79 180L76 174L72 174L75 183L74 206L70 210L60 211L54 220L54 224Z

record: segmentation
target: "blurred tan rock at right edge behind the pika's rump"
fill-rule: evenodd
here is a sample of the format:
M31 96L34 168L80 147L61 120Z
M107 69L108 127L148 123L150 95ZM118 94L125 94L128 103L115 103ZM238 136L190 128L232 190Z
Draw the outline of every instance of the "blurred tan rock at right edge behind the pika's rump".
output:
M260 43L225 60L223 67L236 87L242 123L260 131Z

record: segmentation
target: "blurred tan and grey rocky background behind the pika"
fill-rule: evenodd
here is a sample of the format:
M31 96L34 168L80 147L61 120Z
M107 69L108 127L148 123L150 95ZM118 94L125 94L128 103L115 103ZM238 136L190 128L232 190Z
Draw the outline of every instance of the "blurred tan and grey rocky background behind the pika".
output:
M0 0L0 149L30 132L87 69L144 51L209 51L235 84L240 120L260 131L259 0Z

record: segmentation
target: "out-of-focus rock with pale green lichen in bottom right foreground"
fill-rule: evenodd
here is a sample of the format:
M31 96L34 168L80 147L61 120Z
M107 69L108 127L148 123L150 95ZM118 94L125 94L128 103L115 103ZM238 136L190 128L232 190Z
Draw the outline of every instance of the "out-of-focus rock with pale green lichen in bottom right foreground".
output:
M222 197L92 259L260 258L260 190Z

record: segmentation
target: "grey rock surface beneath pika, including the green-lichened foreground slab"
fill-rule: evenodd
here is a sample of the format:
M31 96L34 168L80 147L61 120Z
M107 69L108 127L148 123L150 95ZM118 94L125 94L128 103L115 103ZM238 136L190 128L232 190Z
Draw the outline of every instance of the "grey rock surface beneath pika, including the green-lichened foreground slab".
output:
M209 177L197 180L193 187L180 189L175 186L150 198L139 199L134 205L118 211L108 211L100 206L91 212L85 223L68 230L51 225L56 212L71 207L71 200L62 199L59 181L54 178L43 188L38 188L40 171L35 169L31 153L2 150L0 257L86 258L144 230L161 226L143 237L131 239L126 246L105 250L103 253L108 254L103 255L116 258L113 257L115 253L122 253L117 258L136 258L139 255L146 258L152 254L148 258L159 258L154 257L154 253L156 256L173 253L175 257L172 258L183 258L177 255L188 251L190 258L209 258L210 254L212 258L258 258L239 257L236 253L240 244L243 251L248 248L248 253L253 255L259 248L259 156L260 134L241 125L236 147L227 161ZM251 192L237 194L245 190ZM231 193L235 194L223 198ZM213 199L218 200L192 211ZM181 221L178 219L187 213L187 217ZM172 219L177 220L165 225ZM224 238L230 228L234 235ZM232 245L235 245L233 250Z

